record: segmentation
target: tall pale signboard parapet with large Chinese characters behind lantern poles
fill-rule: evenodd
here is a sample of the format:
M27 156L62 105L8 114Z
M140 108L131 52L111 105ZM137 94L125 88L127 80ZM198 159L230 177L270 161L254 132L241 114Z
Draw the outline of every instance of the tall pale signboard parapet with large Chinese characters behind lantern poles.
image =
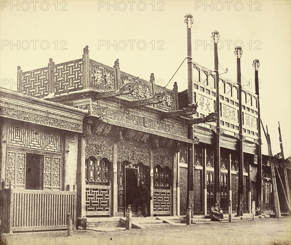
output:
M198 64L193 64L194 102L198 104L197 117L207 116L216 108L215 73ZM220 76L219 103L222 129L238 134L239 99L238 85ZM208 123L215 127L214 123ZM258 96L242 87L242 131L243 135L258 138Z

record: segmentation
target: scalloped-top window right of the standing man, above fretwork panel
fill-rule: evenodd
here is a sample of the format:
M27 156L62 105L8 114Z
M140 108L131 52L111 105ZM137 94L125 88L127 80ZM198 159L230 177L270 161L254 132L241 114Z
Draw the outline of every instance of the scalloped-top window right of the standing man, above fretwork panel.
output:
M170 189L171 170L169 167L162 168L160 165L156 165L154 171L155 188Z

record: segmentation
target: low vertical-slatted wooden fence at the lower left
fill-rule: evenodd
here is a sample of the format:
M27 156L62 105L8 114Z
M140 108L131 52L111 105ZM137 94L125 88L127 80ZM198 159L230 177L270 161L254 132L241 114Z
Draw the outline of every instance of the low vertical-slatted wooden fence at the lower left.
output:
M1 230L13 231L64 229L70 213L76 227L76 192L2 189Z

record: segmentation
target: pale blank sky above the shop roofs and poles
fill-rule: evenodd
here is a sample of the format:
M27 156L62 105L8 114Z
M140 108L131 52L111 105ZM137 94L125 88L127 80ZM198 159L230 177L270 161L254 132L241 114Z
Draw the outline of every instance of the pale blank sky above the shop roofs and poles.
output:
M15 90L17 66L26 71L46 67L49 58L56 64L79 59L86 45L91 59L112 67L119 58L120 70L146 80L154 72L164 86L187 56L184 16L192 13L194 62L213 70L211 32L218 30L220 45L224 44L219 63L228 68L223 76L236 79L233 51L235 45L242 46L242 82L251 80L248 89L254 92L251 64L260 60L261 119L268 125L274 155L280 152L280 121L284 154L291 156L291 1L0 2L1 86ZM175 81L178 91L187 88L186 62L167 88L172 89ZM262 140L267 154L264 135Z

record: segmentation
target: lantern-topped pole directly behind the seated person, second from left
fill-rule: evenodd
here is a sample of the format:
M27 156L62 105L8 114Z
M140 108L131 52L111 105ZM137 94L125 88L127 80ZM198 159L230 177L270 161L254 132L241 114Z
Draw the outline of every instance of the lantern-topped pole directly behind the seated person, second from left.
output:
M215 72L215 86L216 86L216 112L218 113L216 119L216 149L215 149L215 164L214 164L214 200L220 205L220 106L219 106L219 72L218 72L218 52L217 42L219 40L219 32L212 32L212 39L214 41L214 72Z

